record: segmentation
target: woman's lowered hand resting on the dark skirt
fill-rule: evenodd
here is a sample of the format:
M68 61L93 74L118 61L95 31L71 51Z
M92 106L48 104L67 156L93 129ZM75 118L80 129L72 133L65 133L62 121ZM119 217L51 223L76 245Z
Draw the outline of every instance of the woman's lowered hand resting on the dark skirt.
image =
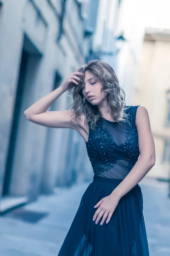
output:
M104 198L102 198L95 206L99 207L93 217L93 221L95 221L95 223L97 224L100 220L100 218L103 216L102 221L100 223L100 225L102 225L105 221L105 219L107 218L106 224L108 224L108 222L111 219L111 216L113 215L114 210L116 209L116 206L119 203L120 198L118 198L116 195L114 196L113 194L108 195Z

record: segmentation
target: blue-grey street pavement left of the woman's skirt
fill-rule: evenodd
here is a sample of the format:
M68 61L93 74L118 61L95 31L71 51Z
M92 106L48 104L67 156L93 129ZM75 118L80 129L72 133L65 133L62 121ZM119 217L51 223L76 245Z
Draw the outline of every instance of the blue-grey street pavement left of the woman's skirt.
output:
M89 183L56 189L1 216L0 256L57 256Z

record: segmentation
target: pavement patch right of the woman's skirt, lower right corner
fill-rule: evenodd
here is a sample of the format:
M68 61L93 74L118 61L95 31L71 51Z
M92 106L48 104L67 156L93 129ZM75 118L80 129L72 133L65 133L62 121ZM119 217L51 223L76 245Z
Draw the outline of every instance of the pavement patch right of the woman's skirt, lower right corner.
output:
M150 256L170 256L168 183L144 179L140 186L144 198L143 212Z

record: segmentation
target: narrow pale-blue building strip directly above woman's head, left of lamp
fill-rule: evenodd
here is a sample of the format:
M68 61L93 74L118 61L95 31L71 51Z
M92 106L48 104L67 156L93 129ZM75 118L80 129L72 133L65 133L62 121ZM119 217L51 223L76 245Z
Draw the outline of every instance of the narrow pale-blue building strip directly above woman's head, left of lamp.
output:
M116 71L116 32L122 0L99 0L96 29L89 58L102 59Z

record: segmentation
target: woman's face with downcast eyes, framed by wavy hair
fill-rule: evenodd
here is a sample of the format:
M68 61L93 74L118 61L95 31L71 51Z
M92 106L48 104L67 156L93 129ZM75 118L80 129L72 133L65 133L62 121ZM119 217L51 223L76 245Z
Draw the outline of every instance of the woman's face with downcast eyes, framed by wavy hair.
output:
M82 93L85 99L88 100L92 105L98 105L105 99L107 93L101 91L103 85L99 78L97 78L93 73L86 70L84 84L82 85ZM89 98L89 96L93 96Z

